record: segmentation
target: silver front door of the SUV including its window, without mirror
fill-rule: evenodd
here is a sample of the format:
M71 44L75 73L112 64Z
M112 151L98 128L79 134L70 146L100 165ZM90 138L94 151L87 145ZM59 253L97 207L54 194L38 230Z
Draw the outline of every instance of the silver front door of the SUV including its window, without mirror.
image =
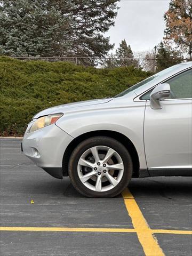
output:
M192 69L166 83L170 99L161 100L162 109L152 109L147 101L145 111L146 161L154 175L155 170L192 168Z

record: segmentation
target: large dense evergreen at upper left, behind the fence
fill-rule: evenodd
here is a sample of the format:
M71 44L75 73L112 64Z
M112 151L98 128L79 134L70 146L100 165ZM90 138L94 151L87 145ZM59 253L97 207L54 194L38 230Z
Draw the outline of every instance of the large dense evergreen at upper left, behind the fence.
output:
M0 0L0 54L104 57L118 0Z

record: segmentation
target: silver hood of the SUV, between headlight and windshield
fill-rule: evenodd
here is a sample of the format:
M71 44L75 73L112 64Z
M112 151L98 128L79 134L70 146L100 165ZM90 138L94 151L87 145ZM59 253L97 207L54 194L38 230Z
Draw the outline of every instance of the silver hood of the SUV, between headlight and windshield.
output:
M54 113L65 113L68 109L71 108L79 108L79 107L85 107L85 106L91 106L91 105L98 105L98 104L103 104L111 101L113 98L110 99L99 99L99 100L86 100L86 101L80 101L80 102L74 102L74 103L68 103L68 104L63 104L59 106L55 106L52 108L47 108L39 113L37 113L33 119L36 119L41 116L46 116Z

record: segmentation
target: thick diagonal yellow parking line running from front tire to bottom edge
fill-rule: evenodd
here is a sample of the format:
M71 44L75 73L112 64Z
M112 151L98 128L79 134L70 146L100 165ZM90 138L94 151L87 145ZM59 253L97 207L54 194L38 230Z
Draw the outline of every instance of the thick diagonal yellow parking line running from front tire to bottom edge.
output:
M137 231L139 242L146 256L165 256L129 189L126 188L122 195L127 212L132 219L133 227Z

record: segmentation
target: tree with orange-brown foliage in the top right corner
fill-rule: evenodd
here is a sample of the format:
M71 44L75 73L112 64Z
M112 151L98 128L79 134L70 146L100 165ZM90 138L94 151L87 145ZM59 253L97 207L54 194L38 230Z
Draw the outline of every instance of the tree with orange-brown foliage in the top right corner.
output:
M181 50L192 53L192 0L171 0L165 13L165 39L172 40Z

